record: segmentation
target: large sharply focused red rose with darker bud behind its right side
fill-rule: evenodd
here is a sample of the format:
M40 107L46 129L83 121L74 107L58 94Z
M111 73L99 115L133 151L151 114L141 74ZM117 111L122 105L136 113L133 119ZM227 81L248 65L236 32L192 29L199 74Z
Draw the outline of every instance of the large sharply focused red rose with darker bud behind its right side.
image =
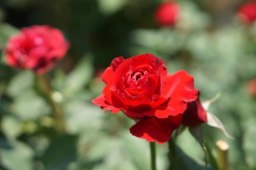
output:
M186 71L168 74L163 61L153 54L126 60L115 58L103 73L102 80L106 83L103 95L93 99L92 103L101 106L105 112L123 111L135 119L137 123L130 132L136 137L165 143L171 139L173 130L180 127L189 106L192 109L186 111L184 125L206 122L205 110L198 109L201 103L193 77Z

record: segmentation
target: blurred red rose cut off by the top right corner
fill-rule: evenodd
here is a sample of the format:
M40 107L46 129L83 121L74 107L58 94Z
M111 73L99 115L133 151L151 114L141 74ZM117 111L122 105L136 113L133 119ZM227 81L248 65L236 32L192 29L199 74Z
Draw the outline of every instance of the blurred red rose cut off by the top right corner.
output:
M238 10L240 19L248 24L252 24L256 19L256 1L247 2Z

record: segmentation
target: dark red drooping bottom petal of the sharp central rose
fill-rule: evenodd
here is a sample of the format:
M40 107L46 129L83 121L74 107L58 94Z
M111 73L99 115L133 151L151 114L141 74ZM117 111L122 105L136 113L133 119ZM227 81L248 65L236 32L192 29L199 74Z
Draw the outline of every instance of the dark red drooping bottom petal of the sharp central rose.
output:
M173 130L180 127L182 114L167 118L144 117L130 128L130 133L146 141L164 144L171 139Z

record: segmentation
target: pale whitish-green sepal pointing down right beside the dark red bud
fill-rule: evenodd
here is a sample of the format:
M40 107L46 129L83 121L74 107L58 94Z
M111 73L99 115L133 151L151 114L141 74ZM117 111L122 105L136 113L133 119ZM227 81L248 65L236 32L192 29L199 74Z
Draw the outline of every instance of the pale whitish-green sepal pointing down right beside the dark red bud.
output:
M220 119L218 119L218 117L216 117L215 115L213 115L212 113L209 113L209 112L207 112L207 124L209 126L212 126L212 127L215 127L215 128L219 128L226 137L228 137L230 139L234 139L234 137L231 137L227 133L227 131L225 130L225 127L221 123Z

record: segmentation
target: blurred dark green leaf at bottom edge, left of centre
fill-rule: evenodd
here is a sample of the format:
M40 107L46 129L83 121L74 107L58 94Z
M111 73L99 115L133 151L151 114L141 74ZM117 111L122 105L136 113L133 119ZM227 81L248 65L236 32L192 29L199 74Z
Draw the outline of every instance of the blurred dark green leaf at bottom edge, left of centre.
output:
M58 136L45 150L41 157L44 170L66 170L76 161L76 136Z

